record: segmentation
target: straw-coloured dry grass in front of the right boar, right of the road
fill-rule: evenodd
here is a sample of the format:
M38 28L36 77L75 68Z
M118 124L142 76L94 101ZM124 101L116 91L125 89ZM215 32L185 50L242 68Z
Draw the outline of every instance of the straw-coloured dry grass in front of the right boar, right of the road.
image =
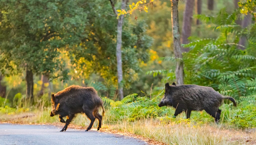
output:
M163 124L154 119L135 122L117 122L109 126L152 138L165 144L256 144L256 132L226 129L223 125Z

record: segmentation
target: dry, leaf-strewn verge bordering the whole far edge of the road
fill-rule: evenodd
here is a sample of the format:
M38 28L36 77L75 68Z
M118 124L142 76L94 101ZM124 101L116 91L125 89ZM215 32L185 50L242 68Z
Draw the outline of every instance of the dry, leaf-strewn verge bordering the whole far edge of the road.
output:
M18 114L0 114L0 123L41 124L62 127L64 124L52 117L52 120L38 121L41 116L35 112ZM45 116L46 118L46 116ZM68 128L86 129L89 120L78 115ZM42 120L42 119L40 119ZM54 120L54 121L53 121ZM97 127L97 121L94 128ZM180 123L161 123L154 119L137 120L134 122L117 121L103 122L100 131L129 136L148 144L256 144L256 128L236 129L225 124L196 124L193 120Z

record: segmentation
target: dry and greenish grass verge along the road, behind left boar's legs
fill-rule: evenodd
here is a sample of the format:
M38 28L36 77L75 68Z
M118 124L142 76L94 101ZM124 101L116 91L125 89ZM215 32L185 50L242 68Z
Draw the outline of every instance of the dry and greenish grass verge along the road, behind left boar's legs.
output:
M64 126L59 122L58 116L50 117L51 108L42 107L34 109L1 108L0 123L22 123L22 124L56 124ZM103 129L129 132L142 137L156 140L164 144L255 144L256 131L254 129L234 129L228 124L197 123L193 119L183 119L184 114L177 118L165 119L139 119L128 121L127 119L111 121L111 114L106 110L103 121ZM182 117L182 118L181 118ZM86 129L89 120L84 114L79 114L71 122L70 126ZM95 121L93 128L96 128Z

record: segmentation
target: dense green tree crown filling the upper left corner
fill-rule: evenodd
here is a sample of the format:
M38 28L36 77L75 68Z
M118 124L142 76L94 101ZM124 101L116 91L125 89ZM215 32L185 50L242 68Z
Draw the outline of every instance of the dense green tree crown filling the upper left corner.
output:
M1 71L9 75L26 68L50 77L53 71L63 71L59 49L77 43L87 21L80 2L2 1Z

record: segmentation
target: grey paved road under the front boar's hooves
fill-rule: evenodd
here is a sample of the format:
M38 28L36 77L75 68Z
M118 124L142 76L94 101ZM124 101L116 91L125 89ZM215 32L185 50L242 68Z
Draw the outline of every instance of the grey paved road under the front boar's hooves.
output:
M95 130L60 130L51 125L0 124L0 144L147 144L142 140Z

